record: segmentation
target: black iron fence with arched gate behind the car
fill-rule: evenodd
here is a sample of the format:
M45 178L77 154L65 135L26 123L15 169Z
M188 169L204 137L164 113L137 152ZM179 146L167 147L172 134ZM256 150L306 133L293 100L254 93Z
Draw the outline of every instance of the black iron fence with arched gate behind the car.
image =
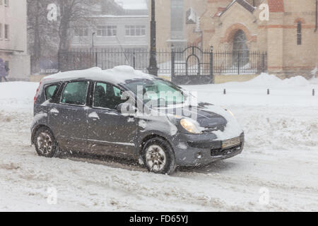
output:
M112 69L129 65L148 72L150 54L146 49L72 49L58 54L59 71ZM197 47L158 50L158 74L166 76L241 75L267 71L266 52L211 52ZM211 71L211 68L213 69Z

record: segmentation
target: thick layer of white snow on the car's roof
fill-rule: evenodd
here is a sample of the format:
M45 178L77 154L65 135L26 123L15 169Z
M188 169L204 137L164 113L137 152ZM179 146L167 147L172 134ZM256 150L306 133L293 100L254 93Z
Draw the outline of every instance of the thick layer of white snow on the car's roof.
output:
M66 71L46 76L44 81L69 81L78 78L92 79L95 81L105 81L109 83L119 84L126 83L126 81L136 79L148 79L153 80L155 76L151 76L142 71L137 71L131 66L116 66L114 69L102 70L98 67L92 69L86 69L81 71Z

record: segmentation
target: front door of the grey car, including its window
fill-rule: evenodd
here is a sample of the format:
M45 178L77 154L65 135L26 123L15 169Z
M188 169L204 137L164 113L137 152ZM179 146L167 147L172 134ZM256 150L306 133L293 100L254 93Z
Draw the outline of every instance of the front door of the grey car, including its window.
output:
M134 157L138 121L117 112L124 102L122 91L109 83L96 82L93 106L88 109L88 145L93 153Z

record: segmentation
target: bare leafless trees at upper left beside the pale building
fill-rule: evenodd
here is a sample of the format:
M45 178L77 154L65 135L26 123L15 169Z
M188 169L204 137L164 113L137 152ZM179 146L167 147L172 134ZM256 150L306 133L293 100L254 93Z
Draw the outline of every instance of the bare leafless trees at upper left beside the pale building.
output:
M57 20L49 21L49 4L57 5ZM43 54L57 56L69 50L72 33L78 27L94 27L91 16L118 13L114 0L28 0L28 34L33 72L40 71ZM44 48L45 47L45 48Z

